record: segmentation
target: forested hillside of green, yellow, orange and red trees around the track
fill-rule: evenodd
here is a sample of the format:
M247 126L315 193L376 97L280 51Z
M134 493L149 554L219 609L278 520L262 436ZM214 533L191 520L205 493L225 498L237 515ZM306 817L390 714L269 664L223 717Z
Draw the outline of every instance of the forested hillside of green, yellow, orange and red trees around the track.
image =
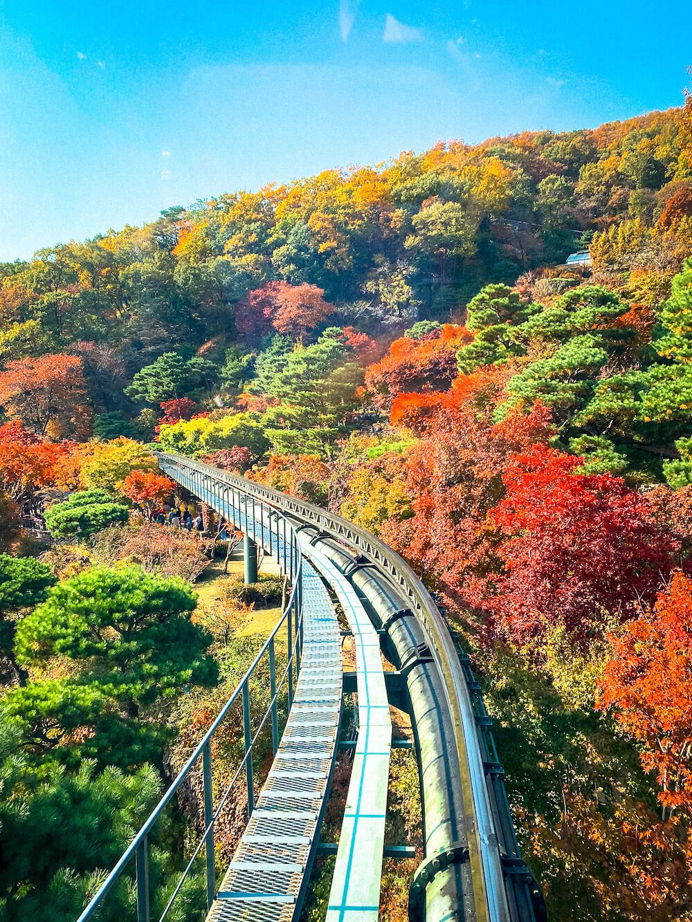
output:
M74 918L253 649L196 614L214 549L151 521L174 488L156 443L321 503L423 576L551 918L692 918L687 259L689 97L0 266L0 915L50 894Z

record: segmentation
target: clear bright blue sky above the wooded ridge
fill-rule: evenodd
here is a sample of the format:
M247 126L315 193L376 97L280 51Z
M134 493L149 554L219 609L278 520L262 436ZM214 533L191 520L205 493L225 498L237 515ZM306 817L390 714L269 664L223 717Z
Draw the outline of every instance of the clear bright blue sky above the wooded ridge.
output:
M0 0L0 259L442 138L680 105L682 2Z

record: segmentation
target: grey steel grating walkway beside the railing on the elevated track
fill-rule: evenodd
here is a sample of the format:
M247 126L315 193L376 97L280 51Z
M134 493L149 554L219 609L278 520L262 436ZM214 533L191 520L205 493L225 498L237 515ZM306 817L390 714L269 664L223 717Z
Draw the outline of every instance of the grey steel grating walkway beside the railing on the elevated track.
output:
M271 540L271 550L280 550L282 540L263 532L266 546ZM306 883L337 746L342 661L334 606L305 559L303 585L303 656L291 712L208 922L290 922Z

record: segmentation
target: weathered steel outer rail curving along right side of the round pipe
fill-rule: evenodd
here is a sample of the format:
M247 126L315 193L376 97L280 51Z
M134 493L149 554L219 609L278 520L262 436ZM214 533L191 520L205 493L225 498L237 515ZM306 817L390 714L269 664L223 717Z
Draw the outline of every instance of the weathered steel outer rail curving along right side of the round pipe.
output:
M197 474L246 495L266 502L284 515L292 515L303 523L316 526L332 538L360 550L404 592L412 603L412 611L427 636L435 664L445 688L451 715L462 782L462 800L469 834L473 903L479 922L508 922L510 917L505 889L505 877L495 828L492 805L485 784L481 752L471 695L459 668L457 649L442 613L413 572L411 566L396 551L360 526L340 515L328 513L312 502L295 499L256 481L229 474L185 455L155 453L161 467L170 473L175 467L197 471Z

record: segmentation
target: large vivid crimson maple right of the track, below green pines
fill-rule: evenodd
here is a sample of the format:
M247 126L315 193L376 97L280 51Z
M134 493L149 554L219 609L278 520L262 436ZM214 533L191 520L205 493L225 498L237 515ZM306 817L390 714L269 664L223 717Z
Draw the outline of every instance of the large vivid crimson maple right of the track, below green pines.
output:
M584 631L606 613L652 601L674 542L650 524L646 501L611 475L579 473L580 459L537 444L510 458L507 493L490 514L504 564L479 599L522 641L564 621Z

